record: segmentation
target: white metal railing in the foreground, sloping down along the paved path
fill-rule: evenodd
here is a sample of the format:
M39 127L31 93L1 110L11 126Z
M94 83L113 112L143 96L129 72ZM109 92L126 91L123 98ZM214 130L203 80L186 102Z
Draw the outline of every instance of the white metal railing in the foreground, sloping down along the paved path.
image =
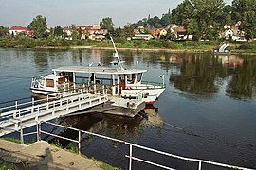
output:
M55 126L55 127L64 127L64 128L67 128L67 129L78 131L78 138L77 138L78 140L69 139L69 138L66 138L66 137L63 137L63 136L59 136L59 135L44 131L42 129L42 126L41 126L42 124L48 124L48 125ZM82 143L82 133L85 133L85 134L88 134L88 135L93 135L93 136L96 136L96 137L99 137L99 138L102 138L102 139L106 139L106 140L110 140L110 141L113 141L113 142L118 142L120 144L127 144L127 145L129 145L129 155L125 155L125 157L129 159L129 170L132 170L133 161L140 161L140 162L144 162L146 164L154 165L154 166L157 166L157 167L160 167L160 168L163 168L163 169L174 170L174 168L172 168L172 167L168 167L168 166L165 166L165 165L162 165L162 164L159 164L159 163L155 163L153 161L147 161L147 160L143 160L141 158L137 158L133 154L134 147L137 147L137 148L142 149L142 150L147 150L147 151L150 151L150 152L153 152L153 153L156 153L156 154L164 155L164 156L169 157L169 158L175 158L175 159L179 159L179 160L183 160L183 161L197 162L198 163L198 170L202 169L202 163L211 164L211 165L220 166L220 167L231 168L231 169L253 170L253 169L250 169L250 168L233 166L233 165L214 162L214 161L204 161L204 160L199 160L199 159L186 158L186 157L174 155L174 154L171 154L171 153L159 151L159 150L156 150L156 149L153 149L153 148L150 148L150 147L142 146L142 145L139 145L139 144L132 144L132 143L128 143L128 142L125 142L125 141L122 141L122 140L119 140L119 139L107 137L107 136L104 136L104 135L101 135L101 134L97 134L97 133L77 129L77 128L74 128L74 127L66 127L66 126L62 126L62 125L58 125L58 124L54 124L54 123L49 123L49 122L46 122L46 121L40 121L37 125L37 140L38 141L41 140L41 134L42 133L44 133L46 135L49 135L49 136L56 137L56 138L61 138L61 139L64 139L64 140L67 140L67 141L70 141L70 142L77 143L78 144L78 149L79 149L79 154L81 154L80 150L81 150L81 143ZM30 134L34 134L34 133L32 132Z

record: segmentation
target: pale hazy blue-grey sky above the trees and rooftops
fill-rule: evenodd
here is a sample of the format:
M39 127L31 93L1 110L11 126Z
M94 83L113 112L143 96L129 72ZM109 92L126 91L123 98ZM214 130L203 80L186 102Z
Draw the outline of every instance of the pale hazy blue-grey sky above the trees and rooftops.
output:
M230 4L232 0L224 0ZM99 24L110 17L115 27L167 13L183 0L1 0L0 26L26 26L37 15L46 17L47 26Z

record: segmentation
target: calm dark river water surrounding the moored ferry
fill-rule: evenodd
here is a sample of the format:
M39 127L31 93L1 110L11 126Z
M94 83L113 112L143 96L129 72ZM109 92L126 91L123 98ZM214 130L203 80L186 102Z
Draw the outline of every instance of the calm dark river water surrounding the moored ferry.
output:
M87 66L100 61L111 66L112 53L0 48L0 104L30 98L33 76L49 74L52 68L64 65ZM119 55L126 68L135 68L138 61L140 69L148 70L143 80L161 82L159 75L165 76L166 90L155 110L147 109L134 119L91 113L56 122L184 157L256 168L256 56L131 51ZM76 138L72 131L59 133ZM82 137L84 155L122 169L128 168L124 157L128 150L127 145ZM141 150L135 153L173 168L196 169L195 163ZM136 161L134 167L157 169Z

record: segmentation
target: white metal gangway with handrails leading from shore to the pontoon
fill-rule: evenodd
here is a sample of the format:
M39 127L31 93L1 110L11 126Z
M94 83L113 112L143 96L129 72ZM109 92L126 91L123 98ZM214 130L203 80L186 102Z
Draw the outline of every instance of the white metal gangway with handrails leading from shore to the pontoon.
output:
M36 125L38 121L49 121L79 110L85 110L108 101L106 90L98 93L73 93L66 97L55 97L45 102L34 101L0 108L0 136Z

